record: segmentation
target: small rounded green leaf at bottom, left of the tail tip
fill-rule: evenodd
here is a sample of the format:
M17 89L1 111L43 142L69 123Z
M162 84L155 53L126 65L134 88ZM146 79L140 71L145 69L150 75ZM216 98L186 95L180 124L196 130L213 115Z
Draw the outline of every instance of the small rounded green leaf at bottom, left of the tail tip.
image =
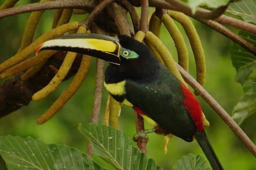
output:
M210 168L200 155L188 154L178 160L173 170L210 170Z

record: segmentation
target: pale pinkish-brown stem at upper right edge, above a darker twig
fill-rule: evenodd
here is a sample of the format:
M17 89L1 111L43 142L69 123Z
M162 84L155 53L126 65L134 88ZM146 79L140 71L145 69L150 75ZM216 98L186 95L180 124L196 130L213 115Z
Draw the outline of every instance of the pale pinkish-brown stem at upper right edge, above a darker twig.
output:
M219 16L219 18L216 18L215 21L256 34L256 25L249 22L238 20L236 18L225 15Z

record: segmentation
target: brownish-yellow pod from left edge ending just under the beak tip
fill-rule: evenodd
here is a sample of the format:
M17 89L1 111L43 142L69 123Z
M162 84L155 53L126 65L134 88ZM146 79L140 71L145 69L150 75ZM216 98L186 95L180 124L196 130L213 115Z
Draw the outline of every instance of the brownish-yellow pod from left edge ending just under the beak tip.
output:
M56 50L42 51L39 55L34 56L34 57L32 57L28 60L25 60L21 63L18 63L17 65L14 65L13 67L5 70L4 72L2 72L0 74L0 78L7 78L14 74L23 72L24 70L29 69L29 68L33 67L34 65L44 62L45 60L47 60L48 58L53 56L53 54L55 54L56 52L57 52Z

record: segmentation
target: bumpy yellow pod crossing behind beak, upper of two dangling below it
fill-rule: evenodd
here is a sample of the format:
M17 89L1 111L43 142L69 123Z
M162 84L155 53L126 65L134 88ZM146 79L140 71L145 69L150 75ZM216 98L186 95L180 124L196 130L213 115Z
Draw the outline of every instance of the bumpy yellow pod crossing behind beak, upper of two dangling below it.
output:
M85 33L86 29L85 27L79 27L77 33ZM73 61L75 60L77 53L74 52L68 52L63 60L62 65L60 66L57 74L53 77L53 79L50 81L50 83L41 89L39 92L35 93L32 96L33 101L39 101L42 98L45 98L49 94L51 94L55 89L59 86L59 84L64 80L66 75L69 72L69 69L72 66Z

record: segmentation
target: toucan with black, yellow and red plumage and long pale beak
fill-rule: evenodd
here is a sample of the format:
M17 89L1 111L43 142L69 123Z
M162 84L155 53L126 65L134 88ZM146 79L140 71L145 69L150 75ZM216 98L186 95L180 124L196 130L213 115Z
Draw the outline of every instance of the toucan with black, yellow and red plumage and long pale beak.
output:
M69 34L43 42L44 49L73 51L108 61L104 85L116 101L133 107L159 134L197 139L213 170L223 170L203 126L203 113L190 90L143 43L128 36Z

